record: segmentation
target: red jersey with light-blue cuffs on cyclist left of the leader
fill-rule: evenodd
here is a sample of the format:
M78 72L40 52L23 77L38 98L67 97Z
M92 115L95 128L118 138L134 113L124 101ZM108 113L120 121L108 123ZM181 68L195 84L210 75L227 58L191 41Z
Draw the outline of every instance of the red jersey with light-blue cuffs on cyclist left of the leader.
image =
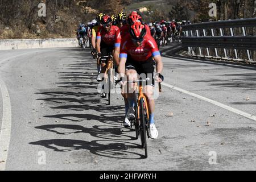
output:
M121 35L117 26L112 26L109 32L106 32L103 27L97 32L97 39L101 39L105 44L120 47Z

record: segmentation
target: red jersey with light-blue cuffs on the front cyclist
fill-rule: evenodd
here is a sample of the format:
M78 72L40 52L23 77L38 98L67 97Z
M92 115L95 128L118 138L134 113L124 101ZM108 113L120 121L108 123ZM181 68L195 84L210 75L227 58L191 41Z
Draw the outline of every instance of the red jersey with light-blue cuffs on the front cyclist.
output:
M122 39L120 58L127 58L127 55L129 55L134 61L146 61L151 56L160 55L160 52L155 39L152 38L149 32L149 34L144 36L142 45L139 47L134 44L130 35L126 35Z

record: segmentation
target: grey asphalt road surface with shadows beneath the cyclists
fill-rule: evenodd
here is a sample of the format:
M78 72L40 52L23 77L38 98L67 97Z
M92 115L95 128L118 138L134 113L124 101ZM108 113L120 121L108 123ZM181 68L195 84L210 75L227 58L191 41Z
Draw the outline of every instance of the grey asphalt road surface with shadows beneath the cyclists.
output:
M97 92L89 50L0 55L1 169L256 169L254 67L163 57L159 138L148 140L143 159L140 140L122 127L122 97L108 106Z

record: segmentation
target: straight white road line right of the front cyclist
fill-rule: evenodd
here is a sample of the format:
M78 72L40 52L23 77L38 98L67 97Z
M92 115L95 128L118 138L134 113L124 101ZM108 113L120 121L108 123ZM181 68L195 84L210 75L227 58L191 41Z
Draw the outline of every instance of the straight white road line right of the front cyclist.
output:
M169 84L166 84L166 83L162 83L162 85L167 86L168 88L177 90L179 92L188 94L189 96L199 98L200 100L209 102L210 104L214 104L216 106L222 107L223 109L232 111L233 113L242 115L243 117L246 117L246 118L249 118L249 119L252 119L252 120L256 121L256 116L253 115L253 114L245 113L244 111L241 111L241 110L238 110L238 109L234 109L233 107L227 106L225 104L221 104L220 102L211 100L211 99L203 97L203 96L199 96L198 94L195 94L195 93L192 93L192 92L188 92L187 90L184 90L184 89L181 89L181 88L177 88L176 86L173 86L173 85L169 85Z

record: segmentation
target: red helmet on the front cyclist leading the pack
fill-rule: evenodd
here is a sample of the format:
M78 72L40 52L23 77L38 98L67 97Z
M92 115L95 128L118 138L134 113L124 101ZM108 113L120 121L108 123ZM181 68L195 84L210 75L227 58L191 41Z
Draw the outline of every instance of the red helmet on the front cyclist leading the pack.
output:
M134 22L130 29L129 29L130 35L133 39L143 39L144 36L146 35L146 27L144 26L143 23L141 23L139 20Z

